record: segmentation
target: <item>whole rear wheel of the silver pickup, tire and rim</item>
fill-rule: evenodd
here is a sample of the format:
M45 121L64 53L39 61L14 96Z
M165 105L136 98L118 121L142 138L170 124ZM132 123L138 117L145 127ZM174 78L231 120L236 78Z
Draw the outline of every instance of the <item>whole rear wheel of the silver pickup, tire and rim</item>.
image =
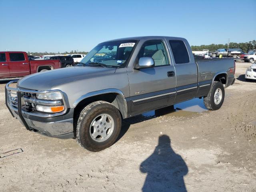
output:
M214 81L210 92L204 97L204 106L208 110L218 110L224 101L225 90L221 82Z

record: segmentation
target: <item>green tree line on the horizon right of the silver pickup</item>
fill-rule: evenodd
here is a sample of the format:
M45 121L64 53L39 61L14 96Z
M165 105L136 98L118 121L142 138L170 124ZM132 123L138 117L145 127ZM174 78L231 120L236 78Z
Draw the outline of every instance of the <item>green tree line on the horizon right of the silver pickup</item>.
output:
M217 49L227 49L227 48L240 48L245 53L248 52L248 50L256 49L256 40L249 41L246 43L234 43L230 42L229 46L228 44L211 44L211 45L200 45L200 46L191 46L192 51L202 51L203 49L208 49L209 51L215 51Z

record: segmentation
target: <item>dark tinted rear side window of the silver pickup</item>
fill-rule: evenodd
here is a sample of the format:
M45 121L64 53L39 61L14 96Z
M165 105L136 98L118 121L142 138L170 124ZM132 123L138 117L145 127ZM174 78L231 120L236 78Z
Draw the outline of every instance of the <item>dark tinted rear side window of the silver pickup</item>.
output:
M176 64L188 63L189 55L186 45L182 40L169 40Z

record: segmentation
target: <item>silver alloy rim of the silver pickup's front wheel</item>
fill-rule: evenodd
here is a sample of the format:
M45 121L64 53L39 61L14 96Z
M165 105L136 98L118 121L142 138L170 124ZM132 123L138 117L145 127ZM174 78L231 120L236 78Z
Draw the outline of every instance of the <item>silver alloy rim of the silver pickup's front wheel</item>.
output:
M90 125L90 136L96 142L107 140L113 133L114 120L109 114L100 114Z

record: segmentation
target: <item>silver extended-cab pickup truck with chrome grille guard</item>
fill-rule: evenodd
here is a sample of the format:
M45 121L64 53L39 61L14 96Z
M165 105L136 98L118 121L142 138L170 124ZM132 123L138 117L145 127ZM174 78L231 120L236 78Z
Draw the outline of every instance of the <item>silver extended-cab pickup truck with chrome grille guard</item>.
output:
M122 38L98 44L77 66L9 82L6 105L27 130L100 151L124 118L192 98L218 110L234 73L231 58L194 60L184 38Z

